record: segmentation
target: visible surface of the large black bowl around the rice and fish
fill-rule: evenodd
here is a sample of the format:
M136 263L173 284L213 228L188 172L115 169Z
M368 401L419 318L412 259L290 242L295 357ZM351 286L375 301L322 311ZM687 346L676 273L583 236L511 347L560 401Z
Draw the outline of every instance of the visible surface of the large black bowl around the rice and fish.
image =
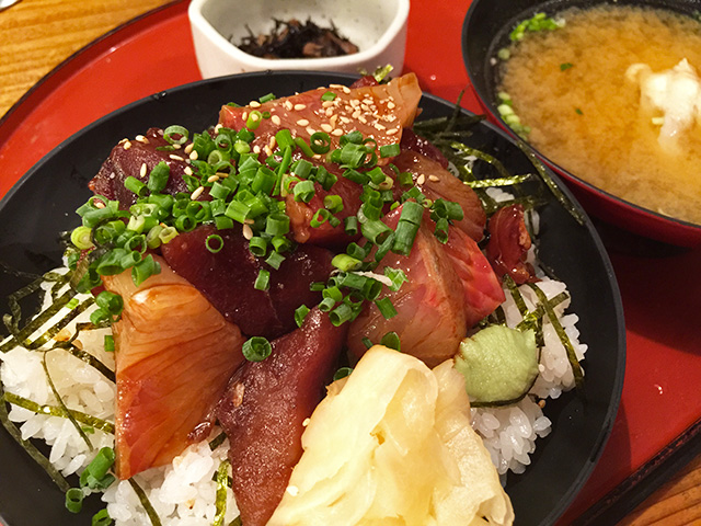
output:
M176 88L103 117L46 156L0 203L0 261L36 273L60 263L57 232L77 226L73 210L91 195L88 181L123 137L171 124L202 130L217 122L219 107L227 102L245 104L268 92L286 95L353 80L322 72L246 73ZM453 108L433 96L424 96L421 106L422 118L449 115ZM491 124L481 123L469 146L498 156L513 173L532 170L514 141ZM579 315L582 341L589 352L584 388L548 403L552 433L539 441L526 473L508 478L506 489L520 525L553 524L586 481L611 431L625 364L621 299L596 230L586 217L584 225L577 224L554 198L543 207L541 224L541 259L568 284L571 309ZM7 297L21 285L4 276L0 294ZM88 500L87 512L67 512L64 495L4 430L0 430L0 516L5 526L88 525L90 512L100 508L94 498Z

